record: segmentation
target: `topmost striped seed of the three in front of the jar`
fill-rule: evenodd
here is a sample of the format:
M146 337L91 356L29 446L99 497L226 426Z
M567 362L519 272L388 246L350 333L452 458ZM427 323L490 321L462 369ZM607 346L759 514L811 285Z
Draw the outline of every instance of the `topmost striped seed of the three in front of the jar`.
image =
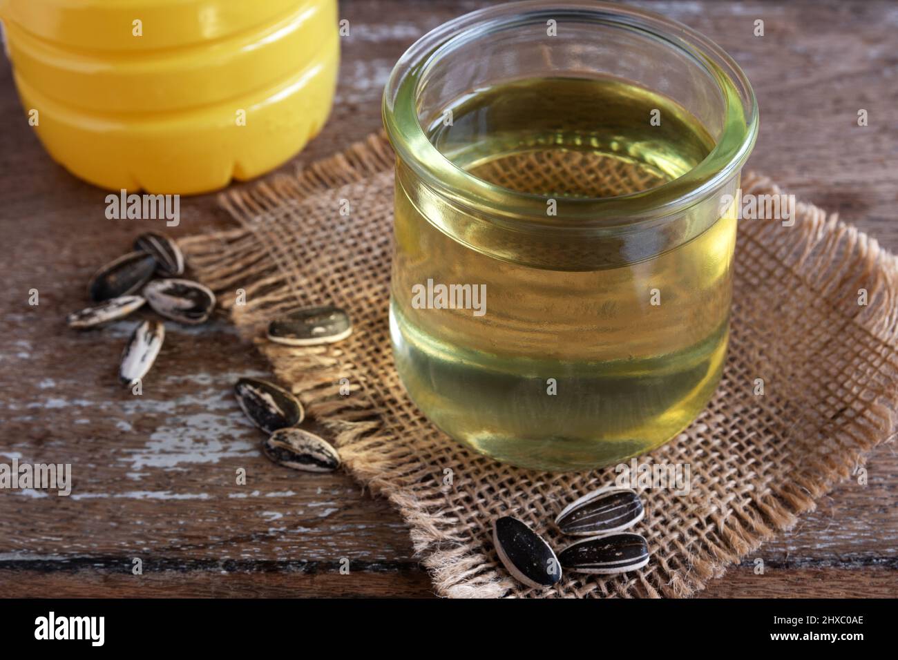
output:
M606 487L580 497L555 518L562 533L571 536L622 532L645 515L642 500L630 488Z

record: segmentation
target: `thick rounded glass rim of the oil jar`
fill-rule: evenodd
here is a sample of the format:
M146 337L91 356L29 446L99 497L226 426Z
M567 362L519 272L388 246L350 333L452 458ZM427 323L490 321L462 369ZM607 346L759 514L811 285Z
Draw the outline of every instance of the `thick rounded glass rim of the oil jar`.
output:
M709 154L691 170L654 188L604 198L555 198L562 211L547 216L550 196L507 189L453 163L427 136L418 117L418 96L428 72L460 48L500 31L555 20L612 26L673 48L708 75L722 98L721 130ZM383 93L383 123L393 149L421 182L450 204L489 211L516 230L559 231L638 224L681 213L731 180L751 154L758 107L742 69L726 52L680 22L638 9L599 2L528 0L462 15L415 42L392 70ZM478 214L481 215L481 214Z

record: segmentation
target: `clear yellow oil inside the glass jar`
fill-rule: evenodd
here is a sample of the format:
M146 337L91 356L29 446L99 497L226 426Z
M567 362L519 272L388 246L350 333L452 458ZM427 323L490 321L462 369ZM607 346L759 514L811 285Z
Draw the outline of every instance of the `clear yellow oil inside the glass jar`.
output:
M501 84L449 110L429 127L442 154L559 203L652 189L714 146L674 101L617 79ZM571 271L471 249L408 193L400 180L394 356L411 399L450 436L523 467L585 469L664 443L707 404L726 355L732 214L686 242L647 230L648 259L621 251L610 268ZM485 308L416 304L428 279L480 287Z

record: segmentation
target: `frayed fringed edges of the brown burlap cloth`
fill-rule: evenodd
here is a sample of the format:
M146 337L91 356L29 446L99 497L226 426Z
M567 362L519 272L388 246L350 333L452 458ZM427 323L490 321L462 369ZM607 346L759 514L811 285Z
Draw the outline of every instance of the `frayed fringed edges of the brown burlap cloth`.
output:
M242 336L255 341L275 366L279 379L290 383L311 416L318 419L340 446L348 471L374 493L387 497L409 523L416 554L433 577L436 593L454 597L496 597L512 586L502 571L482 571L480 556L472 553L453 532L453 515L440 499L418 497L416 484L429 473L409 444L400 443L401 428L378 413L369 390L368 375L358 370L339 345L295 349L272 345L260 338L263 320L277 310L295 306L295 276L288 264L272 263L275 253L253 232L253 224L291 200L350 184L392 168L393 154L383 136L370 136L346 152L300 168L295 176L281 175L251 188L221 195L223 207L242 226L231 231L191 237L180 242L191 268L216 291L242 287L245 305L222 299L223 307ZM744 193L779 195L770 179L749 173ZM841 319L858 326L877 341L894 347L898 338L898 261L881 249L876 240L827 215L810 204L797 205L798 236L788 242L775 224L745 223L740 238L764 246ZM870 292L867 305L858 305L858 289ZM289 356L289 360L282 358ZM360 396L339 396L340 380L347 378ZM892 392L894 393L894 392ZM850 438L849 460L814 459L817 479L776 484L755 500L757 511L744 509L740 519L729 516L718 525L718 533L706 539L705 547L691 552L690 570L676 574L660 589L644 579L649 596L683 597L702 589L710 579L757 550L776 532L787 530L797 517L814 508L817 498L839 481L848 478L866 453L876 444L894 438L894 396L871 401L863 415L841 427ZM843 454L844 456L845 454ZM471 575L476 574L471 577ZM621 595L628 595L623 594Z

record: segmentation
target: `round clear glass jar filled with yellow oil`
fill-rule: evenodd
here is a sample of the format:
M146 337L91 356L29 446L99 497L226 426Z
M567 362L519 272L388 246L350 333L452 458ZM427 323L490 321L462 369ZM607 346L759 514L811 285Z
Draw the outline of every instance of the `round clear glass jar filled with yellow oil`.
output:
M602 3L470 13L393 69L391 334L410 398L499 461L621 462L726 356L750 84L681 23Z

